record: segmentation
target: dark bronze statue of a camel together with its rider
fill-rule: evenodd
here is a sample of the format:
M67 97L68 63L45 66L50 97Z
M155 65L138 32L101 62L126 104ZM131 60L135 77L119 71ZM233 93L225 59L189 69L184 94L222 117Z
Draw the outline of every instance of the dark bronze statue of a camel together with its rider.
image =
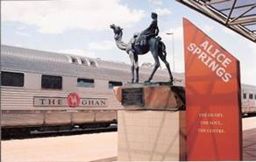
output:
M137 32L133 34L132 39L128 43L124 43L122 40L123 29L117 25L110 25L110 28L114 32L114 39L116 45L120 50L126 51L129 54L132 63L132 83L139 82L139 55L151 52L154 59L153 72L150 74L148 80L145 82L150 82L153 79L153 75L160 67L160 60L162 60L169 74L169 84L172 85L174 78L167 62L167 52L166 46L163 41L161 41L158 28L157 14L152 12L151 18L153 19L151 24L142 32ZM135 72L135 73L134 73Z

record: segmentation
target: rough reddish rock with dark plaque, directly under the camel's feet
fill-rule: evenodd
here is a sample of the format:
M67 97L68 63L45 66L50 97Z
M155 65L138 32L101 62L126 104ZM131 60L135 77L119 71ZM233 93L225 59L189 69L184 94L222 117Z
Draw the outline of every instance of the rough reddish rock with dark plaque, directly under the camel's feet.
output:
M185 109L185 91L179 86L126 84L114 92L124 109Z

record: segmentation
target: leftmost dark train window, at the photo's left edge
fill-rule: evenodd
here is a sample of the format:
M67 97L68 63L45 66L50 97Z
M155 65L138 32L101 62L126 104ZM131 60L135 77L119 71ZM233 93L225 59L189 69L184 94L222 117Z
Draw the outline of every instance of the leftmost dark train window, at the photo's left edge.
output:
M1 86L24 87L24 74L1 72Z

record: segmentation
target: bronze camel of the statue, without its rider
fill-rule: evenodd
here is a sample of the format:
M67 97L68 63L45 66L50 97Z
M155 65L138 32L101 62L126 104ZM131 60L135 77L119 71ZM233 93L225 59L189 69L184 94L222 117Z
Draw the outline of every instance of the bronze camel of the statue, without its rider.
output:
M153 37L147 41L146 46L139 46L139 48L137 46L137 48L133 48L133 46L132 46L133 42L135 41L135 39L137 37L139 37L139 33L135 33L133 38L128 43L124 43L122 41L123 29L117 25L110 25L110 28L114 32L114 39L116 40L117 47L121 50L126 51L126 53L128 53L128 55L130 57L130 60L132 63L132 83L134 83L134 69L136 70L135 82L136 83L139 82L139 63L138 63L139 58L138 58L138 56L142 55L142 54L146 54L150 51L152 53L153 59L154 59L154 68L153 68L152 74L150 75L148 80L145 82L150 82L153 79L153 75L155 74L157 69L160 67L160 60L162 60L166 64L166 67L167 67L167 71L168 71L169 78L170 78L169 82L170 82L170 84L173 84L173 75L170 70L169 63L166 60L166 58L167 58L166 46L159 38ZM160 60L159 60L159 57L160 57Z

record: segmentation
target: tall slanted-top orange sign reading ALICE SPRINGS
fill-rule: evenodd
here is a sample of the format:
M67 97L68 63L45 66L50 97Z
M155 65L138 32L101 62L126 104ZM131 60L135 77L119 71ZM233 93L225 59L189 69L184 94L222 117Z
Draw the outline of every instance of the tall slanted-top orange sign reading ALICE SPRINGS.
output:
M241 160L239 61L183 18L188 160Z

